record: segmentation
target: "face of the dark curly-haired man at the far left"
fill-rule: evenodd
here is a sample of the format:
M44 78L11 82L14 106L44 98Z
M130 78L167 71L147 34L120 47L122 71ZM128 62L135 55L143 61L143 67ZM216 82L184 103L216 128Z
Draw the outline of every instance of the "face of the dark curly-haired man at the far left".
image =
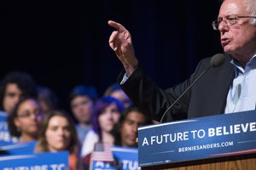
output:
M14 111L15 105L19 102L22 92L15 83L8 83L3 96L3 110L8 113Z

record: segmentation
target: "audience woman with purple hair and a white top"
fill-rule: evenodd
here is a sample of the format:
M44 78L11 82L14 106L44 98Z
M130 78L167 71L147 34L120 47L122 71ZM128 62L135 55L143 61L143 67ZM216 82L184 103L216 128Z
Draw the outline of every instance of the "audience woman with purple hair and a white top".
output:
M90 153L94 150L96 143L113 145L114 137L111 131L114 124L119 122L122 111L124 111L124 105L118 99L103 97L96 100L92 129L85 136L81 150L81 156L85 156L85 164L89 165Z

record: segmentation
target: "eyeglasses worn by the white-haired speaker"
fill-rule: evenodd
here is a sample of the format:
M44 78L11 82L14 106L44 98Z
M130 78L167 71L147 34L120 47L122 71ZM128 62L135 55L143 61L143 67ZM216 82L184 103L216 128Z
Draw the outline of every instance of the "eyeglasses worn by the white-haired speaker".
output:
M213 30L218 30L218 26L219 24L224 21L226 23L227 26L233 26L237 23L238 19L241 18L252 18L252 19L256 19L256 16L236 16L236 15L230 15L224 18L218 18L218 20L213 20L212 21L212 28Z

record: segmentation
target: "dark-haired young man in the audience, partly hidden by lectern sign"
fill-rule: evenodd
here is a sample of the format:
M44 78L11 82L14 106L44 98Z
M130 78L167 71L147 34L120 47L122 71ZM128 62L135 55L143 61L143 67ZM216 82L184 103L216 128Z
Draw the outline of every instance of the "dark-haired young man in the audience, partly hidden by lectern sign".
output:
M153 124L135 105L125 109L120 121L113 128L114 145L137 147L137 131L139 126Z

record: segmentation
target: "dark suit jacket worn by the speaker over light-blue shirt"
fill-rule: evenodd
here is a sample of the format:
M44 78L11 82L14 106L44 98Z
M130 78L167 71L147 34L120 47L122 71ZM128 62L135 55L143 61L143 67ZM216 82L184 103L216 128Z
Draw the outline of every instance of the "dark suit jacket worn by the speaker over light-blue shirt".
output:
M224 56L224 64L207 71L173 105L164 117L163 122L224 113L227 94L235 75L234 66L230 64L231 56L229 54L224 54ZM211 58L202 59L191 77L173 88L166 90L157 88L140 67L121 85L121 88L139 109L152 119L160 122L166 109L210 66L210 60ZM121 82L124 73L125 71L121 72L118 82Z

